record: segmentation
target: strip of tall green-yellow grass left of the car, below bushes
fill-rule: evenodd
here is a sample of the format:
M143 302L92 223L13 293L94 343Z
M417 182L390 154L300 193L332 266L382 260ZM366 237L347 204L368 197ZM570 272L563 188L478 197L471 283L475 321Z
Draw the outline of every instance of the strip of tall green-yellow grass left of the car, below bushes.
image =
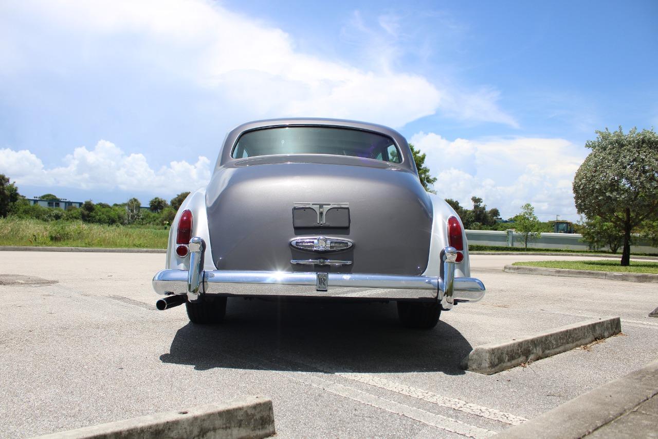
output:
M0 245L166 249L168 229L0 218Z

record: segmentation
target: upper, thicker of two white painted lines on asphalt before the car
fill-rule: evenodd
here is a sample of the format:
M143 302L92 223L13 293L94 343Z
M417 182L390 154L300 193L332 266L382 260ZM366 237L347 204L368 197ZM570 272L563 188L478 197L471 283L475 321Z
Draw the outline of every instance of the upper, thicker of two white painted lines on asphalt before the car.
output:
M339 372L336 373L336 375L343 376L349 380L363 382L364 384L369 384L370 386L378 387L380 389L389 390L390 392L422 399L423 401L428 401L442 407L463 411L465 413L470 413L471 415L492 419L493 421L499 421L505 424L519 425L528 421L525 418L512 415L511 413L505 413L503 411L490 409L489 407L484 407L482 405L468 403L467 401L462 401L461 399L457 398L437 395L426 390L405 386L405 384L399 384L397 382L389 381L370 374Z

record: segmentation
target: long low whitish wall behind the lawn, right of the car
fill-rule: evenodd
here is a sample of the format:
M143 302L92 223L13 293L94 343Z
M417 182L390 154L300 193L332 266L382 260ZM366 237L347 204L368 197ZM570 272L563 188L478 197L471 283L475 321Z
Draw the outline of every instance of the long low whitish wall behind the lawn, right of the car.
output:
M511 247L507 231L495 230L467 230L466 238L469 245L496 245ZM587 243L580 241L580 233L542 233L539 239L530 239L528 249L561 249L561 250L589 250ZM523 236L513 233L513 247L524 247ZM607 248L605 249L607 250ZM617 250L619 253L622 249ZM658 253L658 248L651 247L649 242L639 237L634 237L634 245L630 246L631 252L636 253Z

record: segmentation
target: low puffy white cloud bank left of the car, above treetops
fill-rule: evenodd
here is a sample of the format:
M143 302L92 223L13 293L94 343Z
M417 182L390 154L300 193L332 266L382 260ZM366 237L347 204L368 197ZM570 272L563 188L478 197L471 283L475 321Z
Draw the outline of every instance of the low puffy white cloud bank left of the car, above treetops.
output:
M76 189L124 190L170 195L207 185L211 162L171 161L153 169L142 154L126 154L112 142L99 141L93 150L82 146L64 158L64 166L46 168L27 150L0 150L0 173L18 185Z

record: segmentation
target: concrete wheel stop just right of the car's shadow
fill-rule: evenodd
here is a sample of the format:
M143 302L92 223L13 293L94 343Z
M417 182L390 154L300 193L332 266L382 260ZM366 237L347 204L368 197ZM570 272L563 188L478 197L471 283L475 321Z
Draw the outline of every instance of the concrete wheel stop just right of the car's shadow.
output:
M461 367L472 372L491 375L620 332L619 317L594 318L526 337L475 347L462 361Z

